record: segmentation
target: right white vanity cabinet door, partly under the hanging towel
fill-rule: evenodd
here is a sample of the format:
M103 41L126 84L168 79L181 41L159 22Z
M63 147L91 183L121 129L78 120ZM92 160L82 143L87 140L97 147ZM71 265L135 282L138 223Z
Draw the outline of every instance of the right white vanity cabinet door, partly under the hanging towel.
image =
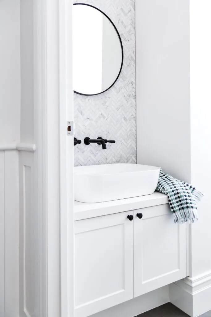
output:
M134 297L186 277L186 225L174 223L169 205L136 210L133 221Z

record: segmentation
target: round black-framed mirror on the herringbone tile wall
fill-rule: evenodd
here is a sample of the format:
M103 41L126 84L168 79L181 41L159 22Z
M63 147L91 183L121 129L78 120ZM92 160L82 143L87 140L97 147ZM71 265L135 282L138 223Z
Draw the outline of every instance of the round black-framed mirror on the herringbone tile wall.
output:
M73 6L73 88L81 95L101 94L117 81L123 47L114 23L90 4Z

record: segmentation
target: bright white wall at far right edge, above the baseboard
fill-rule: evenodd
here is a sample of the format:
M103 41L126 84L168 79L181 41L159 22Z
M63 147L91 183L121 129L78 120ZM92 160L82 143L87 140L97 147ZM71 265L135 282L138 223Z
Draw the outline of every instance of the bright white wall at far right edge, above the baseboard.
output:
M190 1L191 181L204 194L192 226L192 276L211 271L210 15L210 0Z

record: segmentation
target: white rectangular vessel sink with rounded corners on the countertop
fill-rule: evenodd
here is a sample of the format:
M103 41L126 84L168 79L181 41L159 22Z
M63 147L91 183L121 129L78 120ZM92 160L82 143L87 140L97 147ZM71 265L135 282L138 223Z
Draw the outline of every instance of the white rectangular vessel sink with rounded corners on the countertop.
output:
M75 200L101 203L152 194L159 167L139 164L107 164L74 167Z

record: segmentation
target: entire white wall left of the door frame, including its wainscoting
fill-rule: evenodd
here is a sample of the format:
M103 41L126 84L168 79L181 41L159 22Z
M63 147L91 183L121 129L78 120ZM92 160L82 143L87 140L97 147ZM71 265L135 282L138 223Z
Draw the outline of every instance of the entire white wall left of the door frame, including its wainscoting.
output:
M0 1L1 317L41 317L45 307L38 154L33 146L29 152L15 150L16 143L34 143L34 8L38 2ZM41 5L39 9L41 15ZM40 89L37 86L36 91ZM37 126L36 132L38 135Z

